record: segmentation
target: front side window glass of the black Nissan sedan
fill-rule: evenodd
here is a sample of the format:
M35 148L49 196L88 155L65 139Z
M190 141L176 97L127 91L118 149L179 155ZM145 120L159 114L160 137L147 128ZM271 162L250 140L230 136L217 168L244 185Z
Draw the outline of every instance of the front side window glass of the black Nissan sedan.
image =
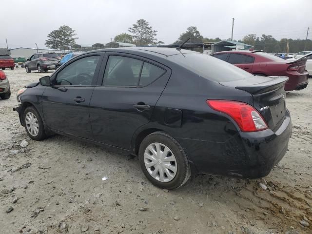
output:
M98 59L96 55L70 63L58 73L55 85L91 85Z

